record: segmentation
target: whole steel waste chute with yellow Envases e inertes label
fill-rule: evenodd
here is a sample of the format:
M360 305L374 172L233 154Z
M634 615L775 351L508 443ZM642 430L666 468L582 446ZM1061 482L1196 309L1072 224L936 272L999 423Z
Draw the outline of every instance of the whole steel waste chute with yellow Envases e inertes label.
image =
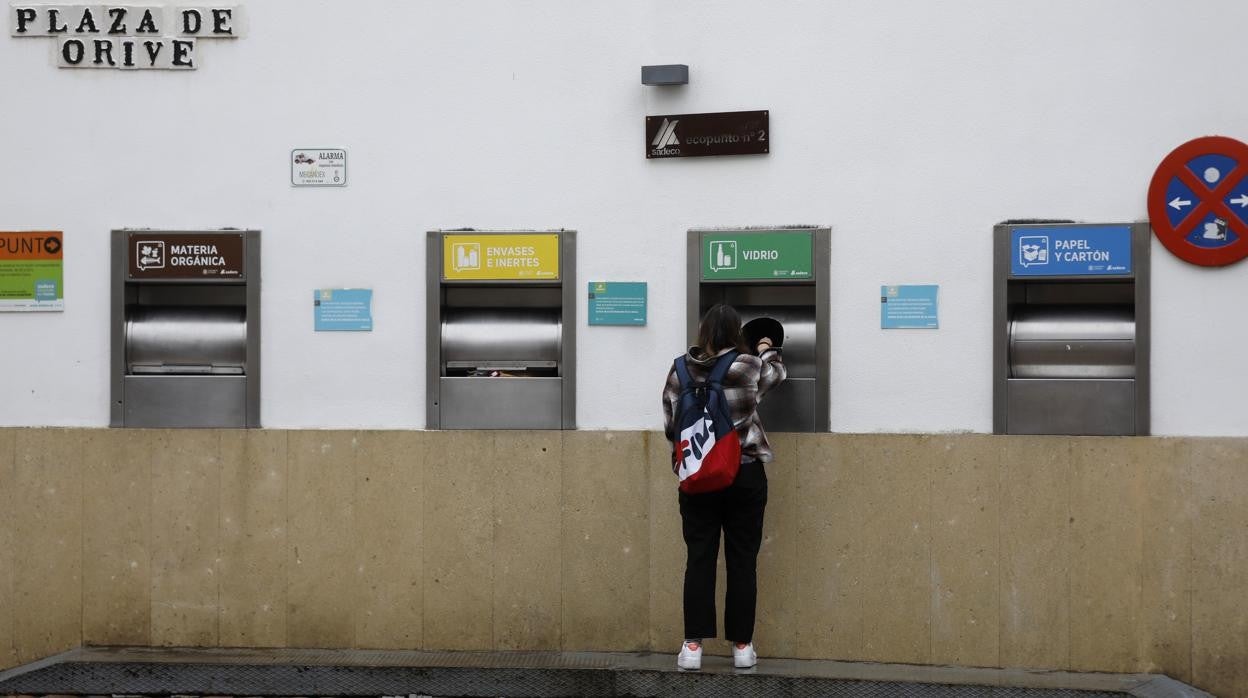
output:
M577 428L575 260L570 230L426 235L427 427Z

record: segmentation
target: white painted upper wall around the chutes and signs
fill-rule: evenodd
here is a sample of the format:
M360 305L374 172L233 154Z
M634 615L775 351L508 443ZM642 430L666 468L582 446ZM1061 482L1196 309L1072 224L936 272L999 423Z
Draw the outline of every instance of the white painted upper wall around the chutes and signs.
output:
M685 230L832 227L834 431L991 431L991 230L1144 219L1173 147L1248 140L1243 0L242 0L195 72L57 70L0 36L0 230L66 232L66 311L0 316L0 425L107 423L109 230L263 230L271 427L424 423L424 231L579 231L582 428L653 428L684 345ZM7 34L7 31L5 32ZM686 62L690 84L639 82ZM646 161L648 114L768 109L768 156ZM351 185L295 190L291 149ZM1154 433L1248 435L1248 263L1153 245ZM587 281L649 325L585 325ZM940 283L938 331L879 328ZM376 331L313 333L318 287Z

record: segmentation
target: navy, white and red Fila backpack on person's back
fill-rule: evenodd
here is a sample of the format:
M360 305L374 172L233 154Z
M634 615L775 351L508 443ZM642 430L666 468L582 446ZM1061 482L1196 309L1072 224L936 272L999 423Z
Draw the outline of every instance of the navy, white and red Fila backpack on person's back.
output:
M685 494L724 489L733 484L741 467L741 441L733 428L723 385L735 360L735 351L720 356L705 381L694 381L685 357L676 357L680 400L673 416L676 440L671 472L680 478L680 491Z

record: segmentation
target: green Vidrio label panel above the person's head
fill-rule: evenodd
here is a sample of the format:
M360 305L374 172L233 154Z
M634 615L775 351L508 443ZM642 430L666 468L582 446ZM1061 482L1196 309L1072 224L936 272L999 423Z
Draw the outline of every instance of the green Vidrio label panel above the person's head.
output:
M810 232L723 232L703 236L703 278L810 278Z

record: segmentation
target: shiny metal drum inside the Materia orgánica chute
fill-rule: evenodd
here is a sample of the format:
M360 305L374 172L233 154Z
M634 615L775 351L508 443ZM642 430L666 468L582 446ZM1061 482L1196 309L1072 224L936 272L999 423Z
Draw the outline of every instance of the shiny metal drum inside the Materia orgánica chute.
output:
M245 307L135 306L126 313L126 371L245 375Z

